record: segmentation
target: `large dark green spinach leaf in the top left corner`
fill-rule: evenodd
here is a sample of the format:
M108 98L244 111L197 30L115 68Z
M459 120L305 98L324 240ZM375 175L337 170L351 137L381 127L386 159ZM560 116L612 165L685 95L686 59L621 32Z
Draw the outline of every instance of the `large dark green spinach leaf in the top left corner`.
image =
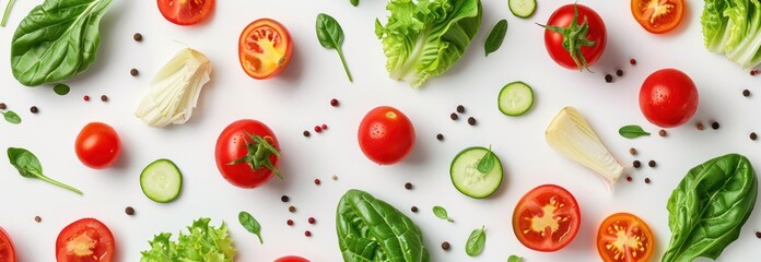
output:
M45 0L19 24L11 69L23 85L61 82L95 62L101 17L112 0Z

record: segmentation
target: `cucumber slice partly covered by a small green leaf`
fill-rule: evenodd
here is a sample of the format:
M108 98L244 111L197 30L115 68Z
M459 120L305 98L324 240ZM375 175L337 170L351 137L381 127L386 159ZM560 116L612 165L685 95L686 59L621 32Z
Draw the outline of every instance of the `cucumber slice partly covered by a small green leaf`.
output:
M493 194L502 183L502 164L500 158L492 153L494 166L487 174L478 170L481 158L489 153L488 148L472 146L463 150L449 166L449 177L455 188L473 199L483 199Z

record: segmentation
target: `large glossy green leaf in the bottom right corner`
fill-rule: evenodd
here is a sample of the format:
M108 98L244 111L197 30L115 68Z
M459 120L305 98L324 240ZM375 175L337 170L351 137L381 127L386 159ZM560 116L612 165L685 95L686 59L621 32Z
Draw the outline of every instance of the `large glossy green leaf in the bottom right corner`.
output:
M744 155L727 154L690 169L666 205L671 240L662 261L716 260L739 237L758 188Z

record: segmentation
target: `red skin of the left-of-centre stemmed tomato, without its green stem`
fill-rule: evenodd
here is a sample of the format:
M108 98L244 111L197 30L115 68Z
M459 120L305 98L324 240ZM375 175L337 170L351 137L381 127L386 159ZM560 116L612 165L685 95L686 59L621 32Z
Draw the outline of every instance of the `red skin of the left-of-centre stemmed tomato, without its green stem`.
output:
M246 163L232 164L248 153L246 143L251 140L247 133L264 138L276 150L280 151L278 138L267 124L253 119L242 119L229 124L216 139L214 158L216 159L216 168L227 182L241 188L256 188L269 181L274 174L264 167L253 170ZM276 168L279 159L276 155L269 156L270 163Z

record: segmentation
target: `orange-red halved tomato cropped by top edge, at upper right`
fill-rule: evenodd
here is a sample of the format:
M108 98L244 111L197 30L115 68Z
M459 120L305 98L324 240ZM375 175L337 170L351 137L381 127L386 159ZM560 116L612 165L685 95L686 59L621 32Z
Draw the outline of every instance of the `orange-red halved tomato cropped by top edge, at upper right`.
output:
M663 34L684 16L684 0L632 0L632 15L647 32Z

